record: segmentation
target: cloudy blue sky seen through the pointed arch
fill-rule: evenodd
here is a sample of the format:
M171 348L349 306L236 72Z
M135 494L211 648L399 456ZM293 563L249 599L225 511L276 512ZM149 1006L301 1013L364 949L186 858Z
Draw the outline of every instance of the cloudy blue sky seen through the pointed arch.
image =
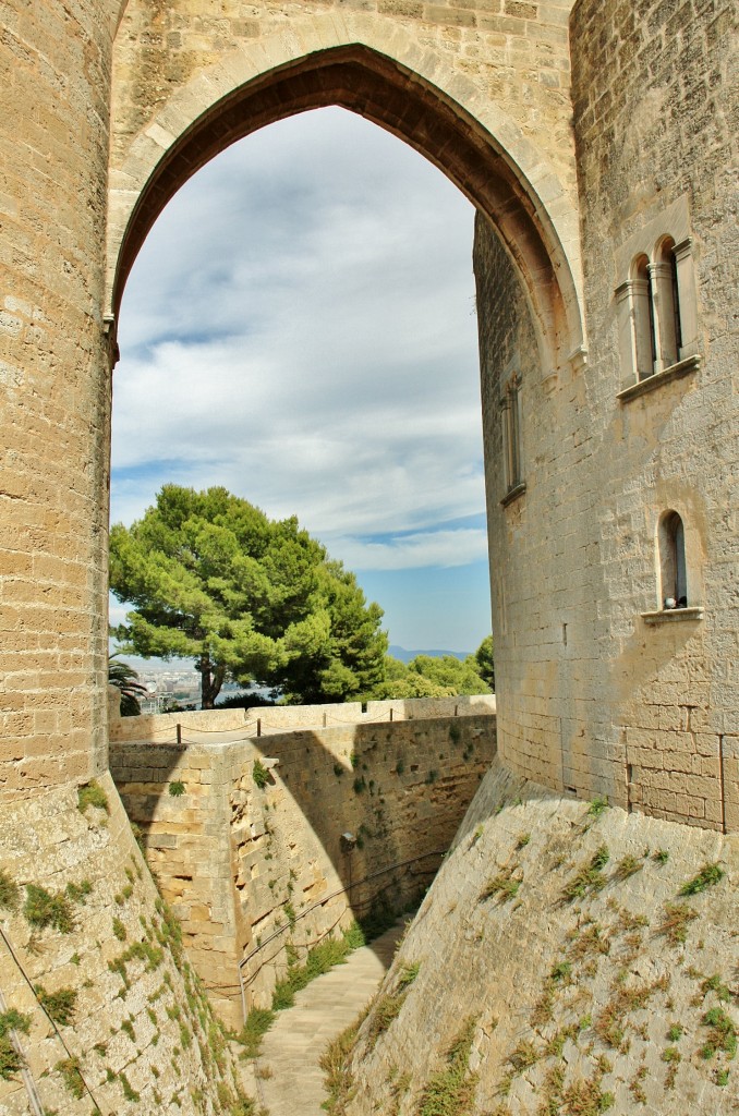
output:
M297 514L385 609L392 643L477 647L490 603L472 220L439 171L338 108L200 171L124 296L112 521L166 482L223 484Z

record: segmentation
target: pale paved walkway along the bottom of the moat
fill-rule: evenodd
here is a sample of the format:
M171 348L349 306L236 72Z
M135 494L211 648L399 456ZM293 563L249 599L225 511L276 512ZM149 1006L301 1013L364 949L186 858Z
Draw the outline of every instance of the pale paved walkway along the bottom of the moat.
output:
M262 1040L258 1095L270 1116L325 1116L318 1059L328 1042L354 1022L377 991L403 932L397 925L349 954L344 965L311 981L279 1011ZM262 1077L262 1074L271 1076Z

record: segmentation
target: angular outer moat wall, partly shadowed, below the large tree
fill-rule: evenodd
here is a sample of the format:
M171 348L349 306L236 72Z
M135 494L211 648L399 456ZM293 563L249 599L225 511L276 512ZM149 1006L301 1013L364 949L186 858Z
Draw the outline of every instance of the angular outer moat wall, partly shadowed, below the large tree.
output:
M231 1026L332 931L418 905L495 723L495 698L113 721L111 770Z

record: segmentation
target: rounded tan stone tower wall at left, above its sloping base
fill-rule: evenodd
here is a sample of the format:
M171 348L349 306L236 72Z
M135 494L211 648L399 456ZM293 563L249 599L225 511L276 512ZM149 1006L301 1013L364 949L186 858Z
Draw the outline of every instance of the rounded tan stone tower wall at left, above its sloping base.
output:
M108 0L0 23L0 785L106 766Z

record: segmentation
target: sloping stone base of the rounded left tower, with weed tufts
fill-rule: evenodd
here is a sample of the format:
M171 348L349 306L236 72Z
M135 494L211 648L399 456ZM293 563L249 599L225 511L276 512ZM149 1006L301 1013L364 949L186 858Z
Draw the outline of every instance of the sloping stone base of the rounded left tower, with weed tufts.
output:
M228 1116L238 1068L109 775L83 805L67 787L2 808L2 1012L28 1031L26 1072L0 1076L0 1112Z

